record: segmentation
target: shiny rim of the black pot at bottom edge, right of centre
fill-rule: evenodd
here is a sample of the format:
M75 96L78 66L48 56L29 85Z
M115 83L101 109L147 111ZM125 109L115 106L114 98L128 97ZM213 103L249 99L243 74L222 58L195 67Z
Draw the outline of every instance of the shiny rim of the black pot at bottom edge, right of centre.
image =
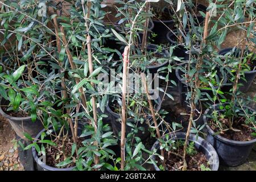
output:
M169 135L170 137L172 137L172 139L183 139L183 138L185 138L186 133L175 132L175 133L168 133L166 135ZM164 138L164 136L162 138ZM211 155L212 155L214 164L212 164L210 169L212 171L218 171L218 167L219 167L220 162L219 162L219 159L218 159L218 154L217 154L216 150L213 148L213 146L209 142L207 142L207 140L205 140L201 137L196 137L196 135L194 135L194 134L190 134L188 140L197 143L199 146L203 147L208 153L212 152ZM204 146L203 143L207 144L207 146ZM159 141L156 140L156 142L154 143L154 145L151 148L151 151L154 151L154 148L159 148L159 147L160 147L159 146ZM152 155L151 159L154 160L155 155ZM156 171L160 171L159 167L155 164L154 164L154 168L156 169Z

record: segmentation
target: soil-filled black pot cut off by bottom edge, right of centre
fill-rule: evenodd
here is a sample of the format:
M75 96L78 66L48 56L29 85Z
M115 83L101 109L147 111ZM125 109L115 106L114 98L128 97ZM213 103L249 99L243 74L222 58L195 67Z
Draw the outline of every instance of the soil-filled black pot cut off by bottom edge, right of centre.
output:
M185 133L174 133L174 134L168 134L172 140L176 140L177 143L184 143L185 140ZM193 142L193 143L192 143ZM173 143L173 144L175 144ZM217 171L218 170L218 155L214 148L205 141L201 137L196 137L196 135L189 135L189 143L191 146L193 146L193 152L191 152L190 155L187 154L186 161L188 171L201 171L203 166L205 168L209 168L212 171ZM154 148L159 150L160 144L159 142L155 142L154 146L152 146L152 151ZM192 148L192 147L189 147ZM183 159L175 154L179 154L180 156L183 155L183 147L181 146L177 150L171 151L171 152L164 152L164 159L165 159L165 164L168 171L176 171L181 168L183 165ZM153 160L158 160L158 166L155 166L156 171L160 171L159 166L162 164L161 160L159 159L158 156L153 155L151 157ZM202 168L201 168L202 167Z

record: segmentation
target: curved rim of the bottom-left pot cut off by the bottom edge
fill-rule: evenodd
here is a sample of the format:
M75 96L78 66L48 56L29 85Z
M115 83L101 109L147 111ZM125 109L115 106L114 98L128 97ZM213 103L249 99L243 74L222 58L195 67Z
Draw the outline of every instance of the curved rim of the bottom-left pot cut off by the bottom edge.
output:
M79 122L80 125L82 125L82 123ZM53 127L52 125L49 125L48 126L48 129ZM38 135L36 135L35 139L34 139L34 143L37 142L37 139L39 139L41 137L41 134L43 132L46 132L47 130L44 128L43 130L41 130ZM51 166L48 166L47 164L44 164L43 162L42 163L38 163L39 158L38 158L38 152L36 151L35 147L32 146L32 155L33 155L33 158L36 162L36 164L38 164L40 167L42 167L43 169L46 169L48 171L72 171L75 167L69 167L69 168L56 168L56 167L51 167Z

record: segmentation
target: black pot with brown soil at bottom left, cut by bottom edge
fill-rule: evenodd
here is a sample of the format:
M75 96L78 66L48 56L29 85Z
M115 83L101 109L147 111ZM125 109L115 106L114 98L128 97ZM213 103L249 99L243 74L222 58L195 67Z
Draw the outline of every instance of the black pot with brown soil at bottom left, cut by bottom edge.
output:
M52 130L52 129L53 129L53 126L48 127L48 130ZM81 123L79 123L78 128L77 128L78 136L82 134L82 129L83 129L83 125ZM34 142L37 142L38 139L40 139L42 133L46 133L46 132L47 132L46 129L43 129L42 131L40 131L40 133L38 133L38 135L35 137ZM66 133L67 130L64 129L64 132ZM70 129L69 129L68 133L69 133L69 135L68 135L67 139L65 139L64 146L63 146L63 135L61 135L60 139L57 141L56 141L56 139L52 138L53 136L50 137L50 135L47 135L44 138L44 139L48 139L48 140L51 140L51 138L52 138L53 142L55 142L57 144L57 146L51 146L51 147L47 147L47 144L42 144L46 148L46 158L45 158L46 163L42 162L42 159L38 155L38 152L36 151L35 147L34 146L32 147L32 154L33 154L33 158L37 164L38 171L72 171L73 168L75 168L75 165L76 165L75 163L68 164L64 168L55 167L55 165L57 163L64 161L64 155L61 153L61 151L64 150L65 155L67 157L71 156L72 144L74 142L72 139L72 134L71 134ZM82 140L83 140L82 138L77 139L78 147L82 146ZM57 156L59 156L59 159L57 159Z

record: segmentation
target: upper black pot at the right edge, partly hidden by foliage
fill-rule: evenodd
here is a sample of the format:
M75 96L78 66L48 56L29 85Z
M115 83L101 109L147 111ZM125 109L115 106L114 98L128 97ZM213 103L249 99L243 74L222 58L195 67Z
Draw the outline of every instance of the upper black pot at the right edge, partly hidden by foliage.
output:
M240 57L241 49L236 48L234 49L234 52L232 52L232 49L233 48L222 49L220 52L218 52L218 54L222 56L225 56L227 54L233 54L236 57ZM243 93L246 93L250 89L251 84L253 84L254 78L256 76L256 60L251 60L249 66L251 68L251 71L245 71L244 78L240 78L240 80L238 81L238 84L242 84L239 90ZM225 90L228 92L230 89L232 89L232 85L233 83L229 82L229 85L225 86Z

